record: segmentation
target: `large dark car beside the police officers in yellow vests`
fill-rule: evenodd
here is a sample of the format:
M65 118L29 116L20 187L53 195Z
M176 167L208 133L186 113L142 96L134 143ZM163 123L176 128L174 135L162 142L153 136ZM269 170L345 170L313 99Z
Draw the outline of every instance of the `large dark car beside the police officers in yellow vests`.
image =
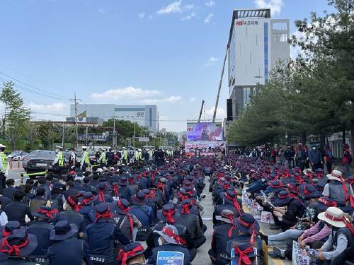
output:
M64 159L69 161L69 153L64 153ZM25 155L23 168L27 173L41 172L53 169L52 163L55 160L55 151L36 150Z

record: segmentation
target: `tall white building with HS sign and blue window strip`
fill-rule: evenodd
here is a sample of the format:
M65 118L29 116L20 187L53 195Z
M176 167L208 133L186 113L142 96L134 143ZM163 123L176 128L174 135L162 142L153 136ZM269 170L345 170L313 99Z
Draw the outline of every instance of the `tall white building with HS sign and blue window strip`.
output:
M290 58L289 20L270 18L270 8L235 10L229 34L229 97L233 119L265 84L277 61Z

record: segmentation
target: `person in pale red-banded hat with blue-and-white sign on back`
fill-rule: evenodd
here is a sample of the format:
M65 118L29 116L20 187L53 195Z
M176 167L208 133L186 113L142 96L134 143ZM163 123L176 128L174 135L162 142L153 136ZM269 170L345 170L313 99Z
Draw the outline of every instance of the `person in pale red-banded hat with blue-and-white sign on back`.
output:
M185 241L178 235L176 227L166 225L161 231L154 232L160 235L162 245L152 249L152 257L149 257L147 264L158 264L159 252L164 252L165 258L176 259L174 263L190 265L190 253L188 249L182 247ZM176 252L180 252L181 254L177 254Z

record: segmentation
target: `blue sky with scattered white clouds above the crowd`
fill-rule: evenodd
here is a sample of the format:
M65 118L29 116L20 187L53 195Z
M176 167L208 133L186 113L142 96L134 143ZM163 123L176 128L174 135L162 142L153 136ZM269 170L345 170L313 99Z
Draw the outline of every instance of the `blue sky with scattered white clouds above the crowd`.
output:
M3 0L0 81L17 79L37 119L64 119L76 91L85 103L156 104L161 127L183 131L202 99L212 117L232 11L256 6L290 18L290 33L333 10L326 0ZM227 96L223 86L219 118Z

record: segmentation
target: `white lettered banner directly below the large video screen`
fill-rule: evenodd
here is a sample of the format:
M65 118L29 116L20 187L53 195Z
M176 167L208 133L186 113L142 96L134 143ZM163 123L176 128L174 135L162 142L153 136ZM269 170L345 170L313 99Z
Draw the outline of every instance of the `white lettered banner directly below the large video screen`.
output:
M198 155L214 155L217 149L224 149L224 141L189 141L185 142L185 154L194 155L197 150Z

